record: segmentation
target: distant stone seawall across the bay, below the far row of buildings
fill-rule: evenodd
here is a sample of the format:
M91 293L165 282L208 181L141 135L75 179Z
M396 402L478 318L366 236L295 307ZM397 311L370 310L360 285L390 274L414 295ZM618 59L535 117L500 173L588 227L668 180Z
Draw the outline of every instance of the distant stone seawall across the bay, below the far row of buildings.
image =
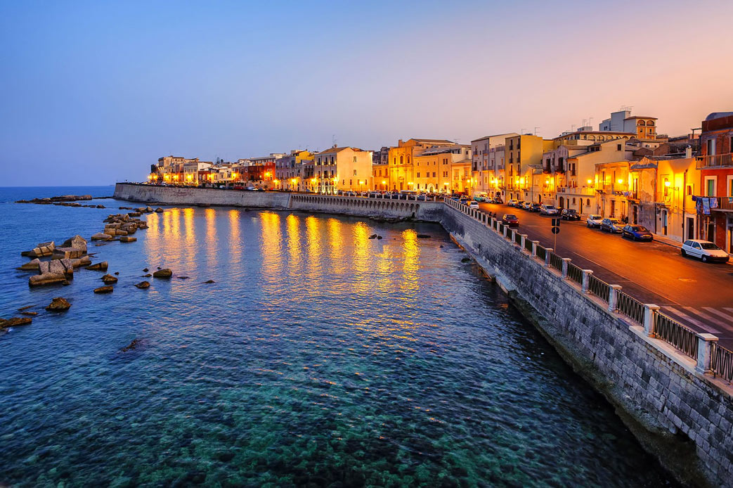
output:
M114 197L133 202L168 205L225 205L232 207L292 209L301 211L417 219L440 222L443 203L421 200L340 197L282 192L242 192L210 188L182 188L117 183Z

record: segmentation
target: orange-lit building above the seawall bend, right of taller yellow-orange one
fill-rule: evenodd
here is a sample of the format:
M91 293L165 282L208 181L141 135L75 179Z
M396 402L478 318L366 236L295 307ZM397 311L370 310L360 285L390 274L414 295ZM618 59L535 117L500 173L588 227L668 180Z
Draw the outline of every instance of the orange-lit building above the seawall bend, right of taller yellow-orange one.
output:
M471 186L471 173L468 182L465 182L465 161L471 160L471 146L447 145L435 146L422 151L413 159L413 181L408 181L408 187L416 192L445 193ZM454 172L460 172L460 178L453 178ZM455 183L455 184L454 184Z

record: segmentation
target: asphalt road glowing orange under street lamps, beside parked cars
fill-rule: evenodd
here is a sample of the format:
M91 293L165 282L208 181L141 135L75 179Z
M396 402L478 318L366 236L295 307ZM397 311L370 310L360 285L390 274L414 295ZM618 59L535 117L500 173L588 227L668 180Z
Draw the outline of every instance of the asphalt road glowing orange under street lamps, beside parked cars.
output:
M697 332L721 338L733 350L733 266L702 263L682 258L678 247L653 242L635 242L619 234L586 227L586 222L561 221L560 233L551 232L550 216L481 203L486 213L515 214L520 233L552 247L582 269L644 303L659 305L661 312ZM557 238L557 240L555 240Z

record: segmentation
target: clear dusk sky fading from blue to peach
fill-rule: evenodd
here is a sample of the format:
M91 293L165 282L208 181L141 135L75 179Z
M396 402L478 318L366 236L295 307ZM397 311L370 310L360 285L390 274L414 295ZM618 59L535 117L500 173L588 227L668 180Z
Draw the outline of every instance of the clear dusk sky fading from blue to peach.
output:
M0 0L0 186L733 110L733 2ZM591 118L592 117L592 118Z

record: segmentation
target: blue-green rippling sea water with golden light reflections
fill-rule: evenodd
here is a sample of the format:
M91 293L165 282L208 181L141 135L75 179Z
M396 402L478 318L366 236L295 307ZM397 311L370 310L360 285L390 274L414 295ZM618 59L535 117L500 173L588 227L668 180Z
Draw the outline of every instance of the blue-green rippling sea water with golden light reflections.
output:
M30 290L21 250L110 210L7 202L111 191L0 189L0 316L39 312L0 336L0 485L674 486L437 225L168 208L90 244L113 294Z

